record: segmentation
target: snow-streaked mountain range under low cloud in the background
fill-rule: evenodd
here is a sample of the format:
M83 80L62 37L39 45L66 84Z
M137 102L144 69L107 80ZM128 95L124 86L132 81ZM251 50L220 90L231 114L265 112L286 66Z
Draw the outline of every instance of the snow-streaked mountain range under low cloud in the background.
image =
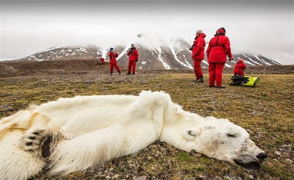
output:
M189 48L192 42L184 39L172 39L169 44L158 47L146 47L136 44L135 47L139 51L139 62L137 68L144 69L193 69L193 60L191 59L192 51ZM119 53L117 58L118 64L122 67L127 66L127 51L130 47L113 46L114 50ZM104 57L105 61L109 61L107 56L108 49L103 49L95 45L79 46L79 47L52 47L44 51L36 52L30 56L26 56L14 61L58 61L58 60L99 60ZM234 67L239 58L244 59L247 66L259 65L281 65L280 63L264 57L263 55L252 55L242 51L233 54L234 60L228 61L226 67ZM208 67L207 57L202 61L201 66L205 69Z

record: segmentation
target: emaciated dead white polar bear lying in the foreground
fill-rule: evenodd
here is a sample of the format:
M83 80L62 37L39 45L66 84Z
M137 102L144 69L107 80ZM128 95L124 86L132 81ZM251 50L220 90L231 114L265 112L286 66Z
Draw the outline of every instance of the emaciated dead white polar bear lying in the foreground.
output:
M45 166L65 175L157 140L246 169L259 168L267 157L245 129L184 111L164 92L61 98L3 118L0 125L1 180L26 180Z

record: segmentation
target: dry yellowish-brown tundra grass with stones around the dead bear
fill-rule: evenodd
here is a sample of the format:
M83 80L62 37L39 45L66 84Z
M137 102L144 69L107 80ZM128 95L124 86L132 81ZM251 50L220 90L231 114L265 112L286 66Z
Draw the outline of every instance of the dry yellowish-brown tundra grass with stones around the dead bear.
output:
M251 139L269 154L263 167L246 172L227 162L189 154L155 142L133 156L121 157L101 167L75 172L62 180L104 180L147 176L148 180L191 180L208 172L230 180L293 180L294 165L294 74L251 75L260 77L256 88L227 86L209 88L207 81L196 84L193 74L138 74L136 76L70 75L0 78L0 118L25 108L29 103L45 103L76 95L138 95L142 90L169 93L185 110L201 116L227 118L251 132ZM207 75L205 75L207 80ZM223 77L229 83L230 75ZM279 151L281 155L275 155ZM149 157L151 156L151 158ZM127 162L127 160L129 160ZM131 162L131 161L132 162ZM131 162L131 163L130 163ZM52 180L46 172L32 180Z

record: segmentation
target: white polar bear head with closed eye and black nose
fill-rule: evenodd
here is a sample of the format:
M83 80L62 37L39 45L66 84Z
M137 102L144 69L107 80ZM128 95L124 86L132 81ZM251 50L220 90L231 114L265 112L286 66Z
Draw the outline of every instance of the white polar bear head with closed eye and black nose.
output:
M192 150L247 170L257 170L267 158L267 154L254 144L245 129L227 119L206 117L196 127L186 129L184 137L192 143Z

